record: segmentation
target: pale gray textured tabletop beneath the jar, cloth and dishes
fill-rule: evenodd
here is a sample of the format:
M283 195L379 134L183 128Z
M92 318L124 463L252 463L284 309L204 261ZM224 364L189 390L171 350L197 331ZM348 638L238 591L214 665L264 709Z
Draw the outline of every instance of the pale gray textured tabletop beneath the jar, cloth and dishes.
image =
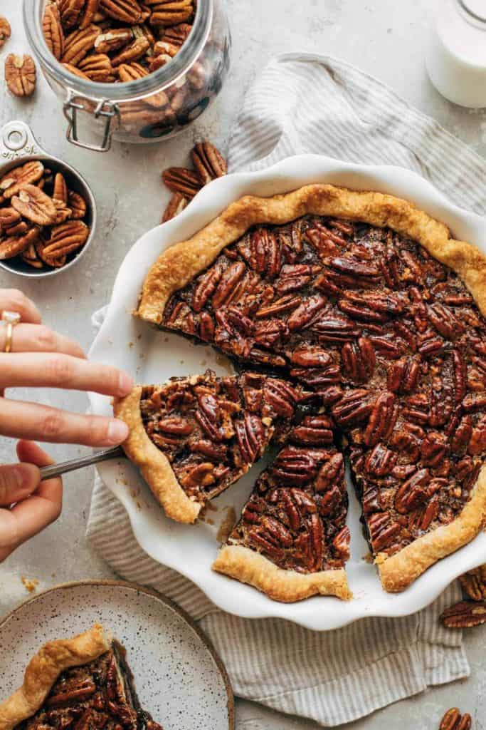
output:
M169 144L149 147L114 145L109 156L74 149L64 139L65 122L58 101L42 78L34 99L19 101L0 89L0 123L21 118L31 124L39 142L77 167L93 183L100 226L92 249L79 266L46 282L26 283L0 273L1 286L20 286L41 307L44 320L84 347L93 339L90 312L109 299L122 258L140 234L158 223L167 193L160 171L183 164L196 137L208 137L224 151L239 100L265 61L275 53L307 50L339 55L391 86L420 110L439 120L452 134L486 154L485 110L464 110L442 99L426 77L423 54L431 0L227 0L232 25L230 78L219 100L186 134ZM12 39L4 56L27 50L20 20L20 0L1 0L0 12L12 23ZM3 75L3 72L2 72ZM3 85L3 81L0 81ZM60 407L84 410L85 396L62 391L13 397L42 399ZM58 460L82 453L77 447L52 447ZM12 458L12 445L0 442L0 458ZM35 577L39 590L64 580L110 577L111 572L85 545L85 519L90 502L90 470L66 477L65 507L59 522L32 540L0 567L0 614L21 602L26 589L20 576ZM444 710L458 705L474 717L474 728L486 728L486 631L466 637L471 678L436 688L400 702L353 728L400 730L436 728ZM238 730L307 730L299 718L283 717L249 702L238 702Z

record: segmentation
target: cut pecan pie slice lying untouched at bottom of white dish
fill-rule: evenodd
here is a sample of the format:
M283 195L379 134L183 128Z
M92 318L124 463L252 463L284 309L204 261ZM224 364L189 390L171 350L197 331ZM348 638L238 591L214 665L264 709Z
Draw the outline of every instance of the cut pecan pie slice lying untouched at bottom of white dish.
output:
M283 602L350 598L344 460L332 422L306 416L256 482L213 569Z

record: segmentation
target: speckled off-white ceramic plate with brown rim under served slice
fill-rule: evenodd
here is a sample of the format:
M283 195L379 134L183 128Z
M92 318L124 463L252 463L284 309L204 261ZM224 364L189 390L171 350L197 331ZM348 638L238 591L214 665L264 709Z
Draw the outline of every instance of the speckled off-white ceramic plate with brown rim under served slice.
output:
M195 623L154 591L117 581L68 583L40 593L0 623L0 700L22 683L50 639L106 626L128 652L142 707L167 730L234 730L227 673Z

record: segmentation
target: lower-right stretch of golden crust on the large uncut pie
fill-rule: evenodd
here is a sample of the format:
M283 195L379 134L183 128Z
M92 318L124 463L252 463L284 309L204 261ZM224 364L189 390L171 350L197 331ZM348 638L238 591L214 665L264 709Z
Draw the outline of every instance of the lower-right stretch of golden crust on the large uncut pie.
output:
M386 558L378 554L380 578L385 591L399 593L441 558L467 545L479 534L486 520L486 466L483 466L471 499L449 525L419 537L399 553Z

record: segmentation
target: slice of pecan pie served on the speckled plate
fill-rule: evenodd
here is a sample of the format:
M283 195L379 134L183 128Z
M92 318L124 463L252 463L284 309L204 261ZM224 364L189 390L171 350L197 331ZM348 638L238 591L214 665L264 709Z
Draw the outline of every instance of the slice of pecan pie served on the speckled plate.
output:
M96 624L48 642L0 702L0 730L162 730L142 710L125 649Z

